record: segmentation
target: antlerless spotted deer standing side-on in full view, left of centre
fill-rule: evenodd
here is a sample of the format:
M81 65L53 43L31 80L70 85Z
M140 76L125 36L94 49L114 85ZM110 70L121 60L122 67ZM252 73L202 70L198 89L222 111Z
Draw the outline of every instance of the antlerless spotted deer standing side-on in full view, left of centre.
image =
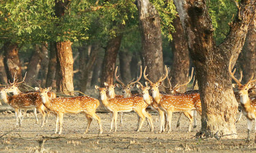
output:
M87 133L93 118L98 121L99 133L101 134L103 132L100 117L96 114L96 109L100 105L98 99L87 96L50 99L47 94L50 90L51 87L40 89L40 97L42 97L44 106L56 115L55 133L58 131L57 124L59 123L59 135L61 134L64 114L79 114L82 112L85 114L88 122L85 133Z

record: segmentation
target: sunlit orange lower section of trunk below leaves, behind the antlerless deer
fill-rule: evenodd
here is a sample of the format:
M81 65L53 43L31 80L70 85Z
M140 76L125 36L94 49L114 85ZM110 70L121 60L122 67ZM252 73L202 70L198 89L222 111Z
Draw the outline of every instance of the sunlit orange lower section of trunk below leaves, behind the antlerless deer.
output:
M74 95L73 86L73 55L72 42L61 41L56 43L57 51L57 92L64 92L66 95Z

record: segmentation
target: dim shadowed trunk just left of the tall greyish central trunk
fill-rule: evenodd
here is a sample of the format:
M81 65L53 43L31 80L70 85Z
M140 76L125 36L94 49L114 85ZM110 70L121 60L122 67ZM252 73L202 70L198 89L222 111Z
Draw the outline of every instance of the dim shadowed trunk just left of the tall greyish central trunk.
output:
M132 60L132 54L128 50L124 49L119 52L119 71L121 78L125 84L128 84L131 80L130 75L130 61Z

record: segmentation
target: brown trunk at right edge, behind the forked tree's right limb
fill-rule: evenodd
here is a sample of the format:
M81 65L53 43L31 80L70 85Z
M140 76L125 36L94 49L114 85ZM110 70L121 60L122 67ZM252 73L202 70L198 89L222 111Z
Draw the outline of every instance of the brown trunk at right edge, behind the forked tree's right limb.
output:
M242 68L243 82L248 82L251 75L256 72L256 14L250 24L246 35L243 50L238 58L238 64Z

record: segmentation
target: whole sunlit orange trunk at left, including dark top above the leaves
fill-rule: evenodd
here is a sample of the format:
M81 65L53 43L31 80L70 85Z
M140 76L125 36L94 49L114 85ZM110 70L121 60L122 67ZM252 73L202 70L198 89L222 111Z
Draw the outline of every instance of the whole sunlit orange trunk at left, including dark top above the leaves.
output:
M66 10L70 7L69 0L55 0L55 14L63 18ZM57 24L57 27L59 24ZM62 35L62 34L61 34ZM57 92L64 92L66 95L74 95L73 84L73 55L72 42L69 40L56 42L57 52Z

